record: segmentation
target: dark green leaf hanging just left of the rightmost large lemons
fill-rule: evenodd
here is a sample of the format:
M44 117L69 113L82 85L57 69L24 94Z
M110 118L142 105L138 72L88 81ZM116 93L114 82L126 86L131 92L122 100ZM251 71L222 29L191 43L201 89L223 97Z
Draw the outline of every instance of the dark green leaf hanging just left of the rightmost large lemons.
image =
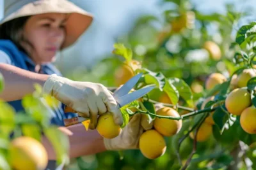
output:
M223 111L221 108L217 108L214 111L212 118L213 118L215 124L218 126L219 131L221 131L229 117L228 117L227 113L225 113L225 111Z

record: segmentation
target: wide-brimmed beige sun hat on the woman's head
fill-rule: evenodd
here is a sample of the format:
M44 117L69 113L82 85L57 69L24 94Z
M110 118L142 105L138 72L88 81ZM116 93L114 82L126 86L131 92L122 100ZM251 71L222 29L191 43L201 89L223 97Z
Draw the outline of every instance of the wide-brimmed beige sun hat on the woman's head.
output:
M14 18L42 13L68 13L66 38L62 48L72 45L92 24L93 15L67 0L7 0L0 25Z

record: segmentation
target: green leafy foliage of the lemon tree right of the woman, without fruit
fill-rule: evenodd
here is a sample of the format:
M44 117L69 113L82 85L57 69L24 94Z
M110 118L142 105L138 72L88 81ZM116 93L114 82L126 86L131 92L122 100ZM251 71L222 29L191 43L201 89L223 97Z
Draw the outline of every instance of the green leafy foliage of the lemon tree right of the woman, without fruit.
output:
M184 169L227 169L232 168L232 164L235 164L234 167L239 165L239 169L255 167L252 154L255 135L243 131L240 117L232 115L225 108L225 99L237 88L233 86L233 78L256 64L255 22L237 26L237 22L248 13L234 11L233 4L226 5L227 13L208 15L196 10L188 0L165 0L161 6L168 4L171 8L164 10L161 18L152 15L139 18L131 31L117 39L113 55L100 61L92 71L70 78L116 87L115 73L118 67L138 60L142 67L134 72L143 73L143 78L137 89L149 84L157 87L143 98L144 102L159 103L165 92L171 101L165 106L175 108L184 118L182 129L174 136L165 137L167 150L158 159L146 159L140 150L127 150L122 155L104 152L83 159L81 157L73 166L81 169L180 169L182 166ZM188 18L184 20L185 15ZM214 58L205 47L207 41L214 42L220 48L220 59ZM211 73L221 73L227 77L227 81L207 90L205 81ZM255 104L255 78L248 81L247 89ZM201 105L209 96L214 96L214 101L202 110ZM154 111L152 108L148 111L153 113L150 114L152 118ZM189 128L196 129L211 111L214 120L211 138L195 144L189 138ZM244 150L241 145L247 149ZM194 154L189 160L193 150ZM241 157L236 154L237 150L242 150ZM246 162L248 159L252 160L252 165ZM187 160L189 164L185 166Z

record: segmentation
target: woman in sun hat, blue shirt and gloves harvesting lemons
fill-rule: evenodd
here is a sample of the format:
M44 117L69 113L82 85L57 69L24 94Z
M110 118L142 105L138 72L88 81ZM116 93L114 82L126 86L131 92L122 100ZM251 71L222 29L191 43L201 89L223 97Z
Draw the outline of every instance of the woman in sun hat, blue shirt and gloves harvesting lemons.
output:
M143 132L141 115L134 115L122 134L105 139L95 130L97 116L113 113L115 124L123 123L122 114L109 90L99 83L79 82L63 78L51 63L58 50L73 45L92 23L90 13L67 0L4 0L4 18L0 22L0 71L5 88L1 99L23 110L20 99L31 94L34 83L43 91L67 104L83 117L90 117L90 130L83 125L67 127L70 157L79 157L106 150L138 148ZM70 57L72 59L72 57ZM52 124L64 126L63 104L52 118ZM49 141L42 140L50 160L55 160ZM52 167L54 169L54 167Z

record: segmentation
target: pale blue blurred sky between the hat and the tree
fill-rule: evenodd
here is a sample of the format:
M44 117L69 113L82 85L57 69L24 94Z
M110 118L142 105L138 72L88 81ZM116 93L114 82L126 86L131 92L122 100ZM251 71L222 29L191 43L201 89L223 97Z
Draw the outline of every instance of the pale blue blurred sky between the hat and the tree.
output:
M125 36L135 26L136 20L143 15L154 15L159 20L164 20L164 10L175 8L175 5L163 3L162 0L71 0L81 8L90 11L95 16L90 29L86 31L77 43L62 52L56 64L60 67L61 72L68 76L74 71L74 67L80 69L92 69L93 66L101 59L111 55L113 43L116 43L120 36ZM242 17L238 20L239 25L247 23L256 16L256 1L253 0L191 0L191 8L195 8L204 14L227 13L225 4L233 4L232 8L236 11L245 11L250 6L252 13L250 16ZM0 0L0 19L3 17L3 0ZM163 27L162 23L157 23L157 29ZM208 27L207 29L211 29ZM210 31L211 32L211 31ZM214 33L214 32L212 32ZM70 62L69 59L72 59Z

